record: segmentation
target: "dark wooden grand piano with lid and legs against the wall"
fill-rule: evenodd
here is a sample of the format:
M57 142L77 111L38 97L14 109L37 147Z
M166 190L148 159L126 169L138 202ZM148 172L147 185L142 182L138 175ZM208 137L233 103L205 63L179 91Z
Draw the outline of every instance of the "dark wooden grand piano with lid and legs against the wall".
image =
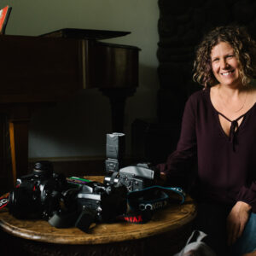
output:
M2 190L27 173L28 125L38 105L99 88L110 99L113 131L123 131L125 98L138 85L139 49L99 39L127 33L63 29L38 37L0 36Z

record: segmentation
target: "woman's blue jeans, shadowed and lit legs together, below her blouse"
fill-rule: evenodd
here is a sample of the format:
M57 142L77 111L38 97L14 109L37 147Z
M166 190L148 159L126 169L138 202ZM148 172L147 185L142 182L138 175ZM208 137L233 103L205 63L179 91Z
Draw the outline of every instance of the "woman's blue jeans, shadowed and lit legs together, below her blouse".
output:
M218 256L241 256L256 249L256 213L251 213L245 230L232 247L227 246L226 224L231 206L199 203L194 230L207 234L204 241Z

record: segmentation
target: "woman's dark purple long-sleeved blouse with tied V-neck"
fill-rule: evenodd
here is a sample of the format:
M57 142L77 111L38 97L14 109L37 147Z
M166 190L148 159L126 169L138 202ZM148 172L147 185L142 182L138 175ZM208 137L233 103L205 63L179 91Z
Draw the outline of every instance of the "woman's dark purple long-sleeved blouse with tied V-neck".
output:
M256 103L230 139L212 106L210 89L190 96L177 150L158 167L172 178L172 174L189 169L185 163L195 157L201 198L231 206L245 201L256 212Z

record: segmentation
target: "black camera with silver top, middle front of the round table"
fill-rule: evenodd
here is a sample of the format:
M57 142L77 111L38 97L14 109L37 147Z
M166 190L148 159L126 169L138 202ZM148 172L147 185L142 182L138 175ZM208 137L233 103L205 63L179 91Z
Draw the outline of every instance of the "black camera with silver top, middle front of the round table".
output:
M86 232L90 224L112 223L127 209L125 186L89 182L79 189L68 189L62 195L67 210L49 219L49 224L56 228L74 225Z

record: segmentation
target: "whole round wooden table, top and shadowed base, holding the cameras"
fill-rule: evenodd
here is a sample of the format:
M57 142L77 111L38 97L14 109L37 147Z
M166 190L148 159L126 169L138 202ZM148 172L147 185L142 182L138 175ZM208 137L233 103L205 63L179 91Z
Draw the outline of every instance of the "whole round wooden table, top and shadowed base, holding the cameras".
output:
M147 224L96 224L84 233L77 228L56 229L44 220L20 220L2 209L0 227L2 243L4 238L12 240L15 247L9 249L26 255L172 255L189 237L195 214L195 204L187 197L183 205L155 212Z

